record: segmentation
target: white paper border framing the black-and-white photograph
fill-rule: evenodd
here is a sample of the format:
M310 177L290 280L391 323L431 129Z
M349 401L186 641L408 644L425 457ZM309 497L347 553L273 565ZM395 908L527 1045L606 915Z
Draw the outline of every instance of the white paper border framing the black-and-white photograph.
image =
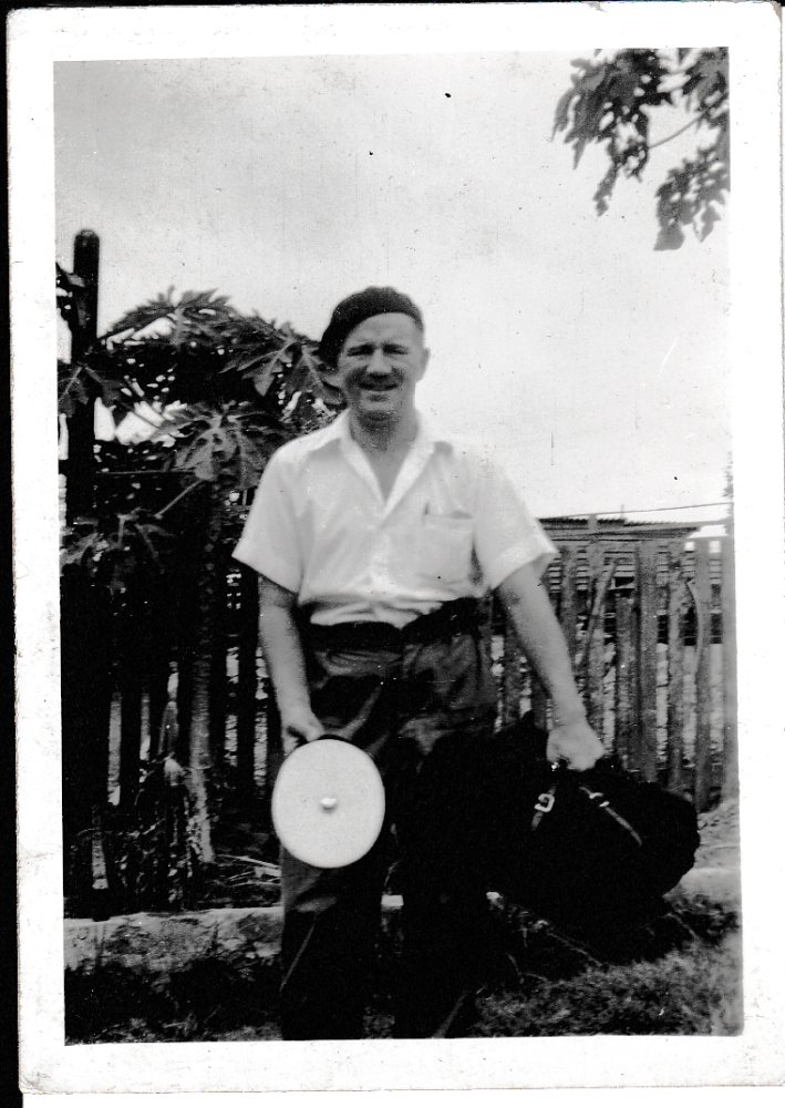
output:
M249 45L258 42L258 51ZM9 19L20 1039L30 1092L785 1080L781 28L764 2L31 9ZM416 48L413 45L416 43ZM58 60L727 45L745 1024L735 1037L65 1046L52 66ZM42 403L42 397L44 402ZM307 1065L304 1059L307 1057Z

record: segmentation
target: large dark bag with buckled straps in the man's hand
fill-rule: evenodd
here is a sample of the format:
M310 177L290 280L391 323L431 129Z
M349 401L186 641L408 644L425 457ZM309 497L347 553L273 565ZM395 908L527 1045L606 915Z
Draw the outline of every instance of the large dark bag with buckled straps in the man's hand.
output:
M601 759L578 773L546 759L531 714L494 736L481 784L489 884L574 930L643 921L692 868L693 806Z

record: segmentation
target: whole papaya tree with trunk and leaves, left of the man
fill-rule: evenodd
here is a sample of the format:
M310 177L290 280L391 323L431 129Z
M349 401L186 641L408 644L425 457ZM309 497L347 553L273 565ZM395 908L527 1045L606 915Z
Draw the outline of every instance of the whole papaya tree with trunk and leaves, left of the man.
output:
M96 449L103 494L94 519L64 529L63 562L110 597L121 680L133 681L142 655L149 664L173 628L179 739L171 753L188 774L206 862L221 779L216 671L226 658L230 552L244 500L272 451L333 418L322 372L316 342L290 325L242 315L215 290L175 297L172 289L126 312L74 365L59 366L61 413L101 400L118 434ZM137 441L128 442L121 432L133 422ZM155 708L163 716L165 702ZM121 763L120 777L128 808L138 768L124 772Z

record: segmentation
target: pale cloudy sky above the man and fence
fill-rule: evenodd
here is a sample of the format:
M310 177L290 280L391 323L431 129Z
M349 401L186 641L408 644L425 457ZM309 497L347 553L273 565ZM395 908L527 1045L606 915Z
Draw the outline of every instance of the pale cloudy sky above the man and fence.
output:
M576 53L58 62L58 260L100 235L100 330L174 286L318 338L393 285L425 316L423 411L538 515L716 520L691 505L730 464L727 214L654 252L686 134L596 215L605 155L551 138Z

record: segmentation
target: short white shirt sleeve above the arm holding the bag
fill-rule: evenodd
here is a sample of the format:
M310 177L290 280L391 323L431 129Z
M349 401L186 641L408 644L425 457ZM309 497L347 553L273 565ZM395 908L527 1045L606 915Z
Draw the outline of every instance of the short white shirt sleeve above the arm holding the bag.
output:
M509 478L487 461L477 488L475 552L489 588L523 565L541 576L558 553Z

